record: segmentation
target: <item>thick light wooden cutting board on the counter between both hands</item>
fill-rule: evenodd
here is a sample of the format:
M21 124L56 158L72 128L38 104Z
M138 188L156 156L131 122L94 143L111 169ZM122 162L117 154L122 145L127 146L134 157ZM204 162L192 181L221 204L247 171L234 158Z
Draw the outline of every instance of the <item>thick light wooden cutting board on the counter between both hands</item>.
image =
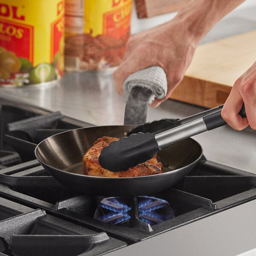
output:
M256 30L200 45L171 99L213 108L256 61Z

